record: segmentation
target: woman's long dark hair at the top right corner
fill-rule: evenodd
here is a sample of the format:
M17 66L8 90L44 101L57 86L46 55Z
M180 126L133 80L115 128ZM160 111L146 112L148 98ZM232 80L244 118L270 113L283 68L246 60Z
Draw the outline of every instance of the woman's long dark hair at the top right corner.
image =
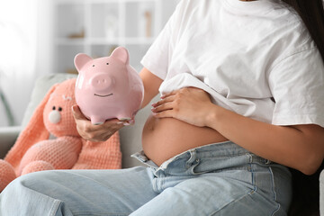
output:
M324 9L322 0L283 0L301 16L324 60Z

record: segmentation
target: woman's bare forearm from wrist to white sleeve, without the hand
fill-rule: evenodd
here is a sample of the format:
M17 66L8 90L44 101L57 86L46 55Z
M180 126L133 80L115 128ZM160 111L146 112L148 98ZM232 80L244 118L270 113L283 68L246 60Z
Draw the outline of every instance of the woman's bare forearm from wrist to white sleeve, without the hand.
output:
M207 125L239 146L311 175L324 156L324 129L318 125L277 126L213 106Z

